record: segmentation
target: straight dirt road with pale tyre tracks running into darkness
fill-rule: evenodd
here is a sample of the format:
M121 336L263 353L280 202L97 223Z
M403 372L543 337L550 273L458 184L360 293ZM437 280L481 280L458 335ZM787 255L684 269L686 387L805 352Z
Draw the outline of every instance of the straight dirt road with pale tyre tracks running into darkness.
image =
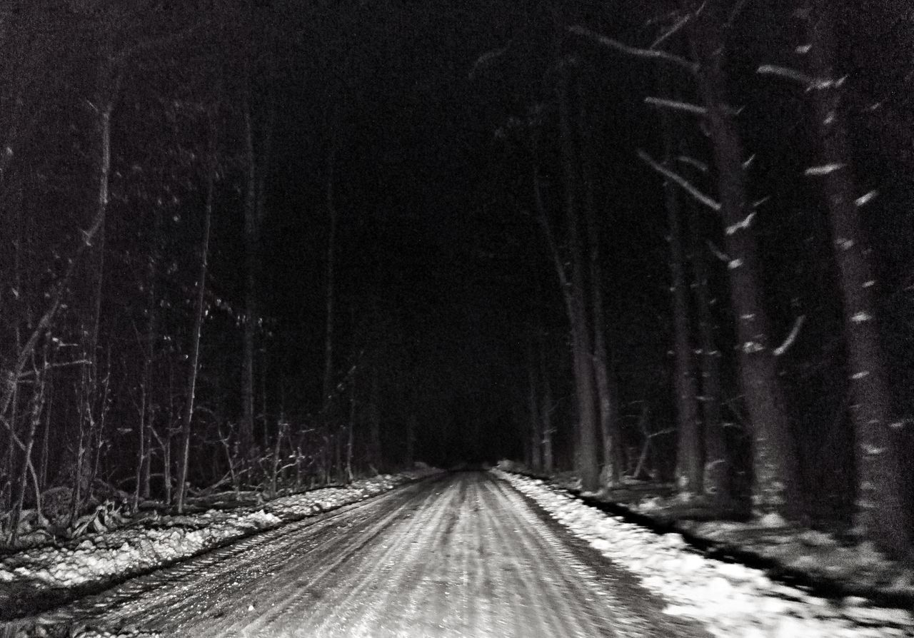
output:
M180 636L704 636L491 473L292 523L50 611Z

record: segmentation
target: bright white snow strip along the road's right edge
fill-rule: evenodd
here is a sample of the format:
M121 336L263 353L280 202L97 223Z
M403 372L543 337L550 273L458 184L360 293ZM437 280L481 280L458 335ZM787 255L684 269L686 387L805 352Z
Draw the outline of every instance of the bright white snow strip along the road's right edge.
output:
M575 536L590 543L615 564L632 571L643 586L669 601L666 613L696 619L717 636L745 638L840 638L842 636L914 636L914 613L879 607L866 598L829 599L772 580L763 570L707 558L689 547L681 534L657 534L584 504L567 490L536 478L493 470L533 499ZM737 524L707 523L705 532L725 533ZM817 537L824 540L825 535ZM830 541L829 541L830 542ZM785 541L786 543L786 541ZM777 543L775 543L776 545ZM873 549L842 555L833 578L855 580L860 564L873 572L879 561ZM821 559L821 558L820 558ZM898 573L897 566L891 573ZM905 593L910 571L894 583Z

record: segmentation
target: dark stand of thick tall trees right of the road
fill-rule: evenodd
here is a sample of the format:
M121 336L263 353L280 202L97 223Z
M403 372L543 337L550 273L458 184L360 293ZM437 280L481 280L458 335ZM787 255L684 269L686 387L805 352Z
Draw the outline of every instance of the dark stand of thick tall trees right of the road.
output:
M878 27L819 2L781 3L775 15L752 3L656 4L650 19L643 5L624 17L537 10L473 75L502 80L539 63L526 112L496 136L528 167L515 206L540 231L570 328L565 463L586 490L653 471L695 511L750 505L770 521L853 525L907 553L901 174L912 156L884 139L909 122L910 104L875 77L909 80L863 39ZM645 284L668 288L665 308L654 295L641 305ZM644 333L660 342L648 349L667 377L639 369ZM555 431L539 398L552 388L527 360L526 461L548 472Z

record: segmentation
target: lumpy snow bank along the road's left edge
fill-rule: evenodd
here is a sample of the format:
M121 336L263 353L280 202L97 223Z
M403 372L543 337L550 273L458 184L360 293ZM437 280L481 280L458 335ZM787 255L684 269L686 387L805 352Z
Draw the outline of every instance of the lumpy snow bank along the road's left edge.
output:
M0 558L0 620L64 601L71 595L68 592L98 589L231 540L356 503L440 472L421 467L381 474L341 487L281 496L263 503L257 511L242 506L199 514L156 515L138 526L5 555Z

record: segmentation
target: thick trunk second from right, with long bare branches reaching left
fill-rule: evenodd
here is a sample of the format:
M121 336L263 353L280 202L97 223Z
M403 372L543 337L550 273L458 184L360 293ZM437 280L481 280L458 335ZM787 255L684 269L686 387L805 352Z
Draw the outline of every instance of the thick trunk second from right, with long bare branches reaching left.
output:
M686 0L686 5L692 5ZM693 10L695 9L692 5ZM777 374L764 306L759 250L748 201L739 131L727 105L724 25L728 3L702 5L693 23L698 84L717 165L720 213L729 256L730 300L737 318L739 377L752 429L752 501L758 514L799 516L802 493L791 422Z

